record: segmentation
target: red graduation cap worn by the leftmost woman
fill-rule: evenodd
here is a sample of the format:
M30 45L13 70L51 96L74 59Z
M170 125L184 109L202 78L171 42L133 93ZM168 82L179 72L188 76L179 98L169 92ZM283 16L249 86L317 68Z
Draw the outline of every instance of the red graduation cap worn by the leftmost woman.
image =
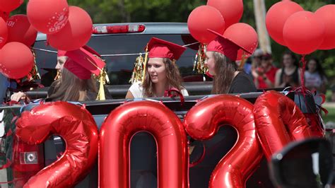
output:
M69 57L64 67L81 79L89 79L91 74L98 76L105 66L105 62L98 58L100 54L88 46L67 51L64 55Z

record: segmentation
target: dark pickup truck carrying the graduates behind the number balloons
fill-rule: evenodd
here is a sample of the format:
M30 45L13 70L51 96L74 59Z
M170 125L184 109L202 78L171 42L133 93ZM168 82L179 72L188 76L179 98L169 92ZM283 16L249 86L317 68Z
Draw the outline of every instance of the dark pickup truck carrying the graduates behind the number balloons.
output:
M184 105L180 105L179 98L150 98L149 100L162 101L164 105L174 111L175 114L183 119L184 114L191 109L201 98L206 98L211 93L212 83L208 77L196 74L193 71L194 57L199 44L196 42L187 29L186 23L119 23L95 25L90 42L88 45L102 54L106 60L107 74L110 77L110 85L107 88L112 94L113 100L89 101L85 102L86 108L93 115L98 128L100 128L107 114L124 102L124 96L130 87L129 79L133 69L134 61L139 53L144 52L146 43L151 37L159 37L163 40L175 42L179 45L187 46L178 66L184 78L184 87L189 91L190 96L185 97ZM56 49L46 45L46 36L39 34L34 48L37 57L37 67L42 76L42 84L49 86L53 81L55 72L45 71L53 69L56 65ZM50 50L53 52L47 52ZM245 93L241 98L254 103L256 98L263 91L257 93ZM304 114L310 118L319 118L317 106L312 95L302 97L300 93L288 93L289 98L295 101ZM28 92L30 98L45 98L47 87L31 90ZM15 131L15 124L12 119L19 116L24 110L30 110L38 104L30 104L25 107L14 105L11 107L0 106L0 111L4 113L2 123L5 133L9 130ZM319 119L318 119L319 120ZM320 122L320 121L319 121ZM322 124L319 124L322 126ZM228 153L233 147L237 132L232 127L221 127L218 136L209 141L193 141L195 146L191 162L199 162L189 169L190 187L208 187L211 172L216 167L219 160ZM17 147L18 153L13 153L13 147ZM1 139L1 152L5 153L6 158L0 160L6 163L6 159L12 161L11 168L7 170L8 181L11 187L19 187L36 172L57 160L57 157L64 151L64 141L59 136L51 136L48 141L38 146L29 146L25 143L14 144L13 136ZM202 153L206 149L204 157ZM155 158L156 148L153 137L145 132L136 134L131 141L131 187L157 187L155 179L143 180L143 175L150 174L151 177L157 176L157 160ZM199 159L201 159L199 161ZM4 165L4 164L0 164ZM141 182L153 182L152 184L141 184ZM86 179L76 187L98 187L98 165L91 170ZM247 187L274 187L269 180L266 160L262 160L261 168L254 172L254 175L247 181Z

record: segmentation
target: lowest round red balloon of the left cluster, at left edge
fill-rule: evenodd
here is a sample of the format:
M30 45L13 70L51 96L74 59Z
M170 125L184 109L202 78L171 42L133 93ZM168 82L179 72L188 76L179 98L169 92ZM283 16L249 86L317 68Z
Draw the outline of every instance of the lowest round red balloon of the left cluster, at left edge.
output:
M23 78L33 69L34 57L20 42L8 42L0 51L0 71L12 79Z

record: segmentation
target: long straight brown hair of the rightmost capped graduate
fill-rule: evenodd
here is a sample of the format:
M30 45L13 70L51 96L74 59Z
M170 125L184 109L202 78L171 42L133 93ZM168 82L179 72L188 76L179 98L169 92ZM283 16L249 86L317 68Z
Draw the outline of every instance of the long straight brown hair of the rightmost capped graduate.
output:
M231 61L225 55L214 52L213 53L215 60L215 72L216 76L214 76L212 94L224 94L228 93L230 88L230 84L232 83L235 71L238 70L238 66L235 61Z

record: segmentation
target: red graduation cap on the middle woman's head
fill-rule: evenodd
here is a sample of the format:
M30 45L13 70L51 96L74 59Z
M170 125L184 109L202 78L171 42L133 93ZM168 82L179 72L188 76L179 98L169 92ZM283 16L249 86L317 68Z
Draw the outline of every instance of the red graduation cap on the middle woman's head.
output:
M184 53L185 50L186 47L156 37L152 37L148 42L149 58L160 57L177 60L182 56L182 53Z

